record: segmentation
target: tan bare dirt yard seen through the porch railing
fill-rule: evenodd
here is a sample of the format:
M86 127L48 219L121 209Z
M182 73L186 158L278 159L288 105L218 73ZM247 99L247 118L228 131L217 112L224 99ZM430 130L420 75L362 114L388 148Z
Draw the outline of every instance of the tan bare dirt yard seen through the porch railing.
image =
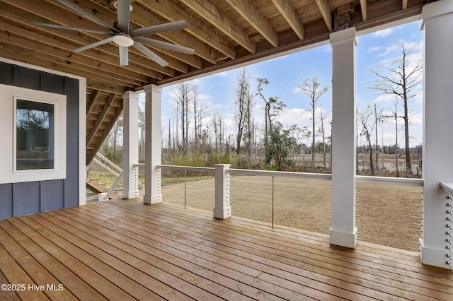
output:
M358 183L358 239L417 250L421 192L421 187ZM162 186L162 195L164 202L212 212L214 179L167 184ZM327 180L275 177L273 191L271 177L232 176L230 204L233 216L274 223L275 227L283 225L324 234L331 228L331 181Z

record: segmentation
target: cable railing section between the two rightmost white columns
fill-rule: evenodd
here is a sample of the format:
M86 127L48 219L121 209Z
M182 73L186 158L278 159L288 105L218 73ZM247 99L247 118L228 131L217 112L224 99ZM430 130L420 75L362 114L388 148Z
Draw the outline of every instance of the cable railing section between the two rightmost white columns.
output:
M357 240L418 251L423 179L356 176Z

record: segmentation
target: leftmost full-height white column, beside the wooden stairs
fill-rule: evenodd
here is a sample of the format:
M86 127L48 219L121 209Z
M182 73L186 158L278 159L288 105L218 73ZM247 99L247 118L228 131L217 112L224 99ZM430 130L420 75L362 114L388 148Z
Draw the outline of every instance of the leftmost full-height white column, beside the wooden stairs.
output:
M139 196L137 167L139 163L139 93L127 91L122 96L124 104L123 127L123 199Z

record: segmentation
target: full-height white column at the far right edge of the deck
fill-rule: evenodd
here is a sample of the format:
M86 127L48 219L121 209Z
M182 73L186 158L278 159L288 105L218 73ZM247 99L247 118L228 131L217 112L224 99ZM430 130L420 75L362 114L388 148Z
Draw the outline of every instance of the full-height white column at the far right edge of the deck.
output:
M423 264L448 268L448 200L440 182L453 182L453 1L423 6L422 18L425 184L420 256Z

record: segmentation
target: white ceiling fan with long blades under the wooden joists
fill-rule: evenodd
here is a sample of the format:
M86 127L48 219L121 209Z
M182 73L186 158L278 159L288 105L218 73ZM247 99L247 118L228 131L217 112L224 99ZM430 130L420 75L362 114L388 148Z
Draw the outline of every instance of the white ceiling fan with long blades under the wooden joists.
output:
M137 28L137 29L130 29L130 11L132 10L132 6L130 5L130 0L118 0L115 3L115 7L117 8L117 25L115 27L108 25L107 23L99 20L98 18L91 16L89 13L81 10L81 8L71 4L67 0L57 0L59 3L64 4L65 6L71 8L73 11L76 11L81 16L84 16L93 22L98 23L99 25L103 26L110 30L108 31L101 31L101 30L91 30L87 28L76 28L72 26L65 26L65 25L57 25L57 24L50 24L50 23L40 23L40 22L33 22L35 25L42 25L52 28L62 28L68 30L78 30L78 31L85 31L87 33L100 33L105 35L111 35L111 37L107 37L103 40L93 42L91 44L73 49L72 52L82 52L86 49L90 49L93 47L98 47L109 42L114 42L118 45L118 49L120 52L120 66L127 66L129 64L129 47L132 46L135 49L139 50L145 54L149 59L156 61L157 64L161 66L167 66L168 62L164 59L159 57L157 54L152 52L148 47L144 46L142 43L145 43L150 46L160 47L164 49L173 50L176 52L182 52L185 54L193 54L195 52L194 49L190 49L188 47L183 47L175 44L171 44L168 42L163 42L159 40L150 39L149 37L144 37L145 35L154 35L156 33L164 33L171 30L181 30L184 28L188 28L188 24L185 20L180 20L176 22L164 23L159 25L151 25L144 28Z

